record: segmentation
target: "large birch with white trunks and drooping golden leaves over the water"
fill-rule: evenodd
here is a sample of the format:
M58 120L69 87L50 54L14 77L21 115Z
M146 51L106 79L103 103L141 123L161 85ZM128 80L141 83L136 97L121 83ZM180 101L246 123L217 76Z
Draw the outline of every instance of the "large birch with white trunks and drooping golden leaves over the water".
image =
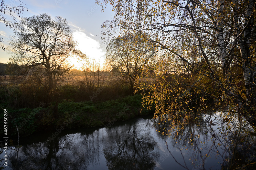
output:
M169 120L172 127L179 124L182 128L206 110L220 111L225 116L223 123L236 124L239 129L227 149L233 156L229 155L223 162L228 169L241 167L242 164L235 164L234 158L235 154L239 155L235 153L238 143L243 135L252 138L256 128L256 1L97 2L102 11L106 4L111 4L115 12L113 20L102 25L105 41L116 33L147 34L144 41L158 44L165 54L159 61L171 64L164 72L161 68L168 64L156 65L158 76L153 83L137 83L149 92L143 93L143 99L146 104L155 105L155 118L163 118L159 123ZM214 125L210 120L208 123ZM248 148L252 145L248 144Z

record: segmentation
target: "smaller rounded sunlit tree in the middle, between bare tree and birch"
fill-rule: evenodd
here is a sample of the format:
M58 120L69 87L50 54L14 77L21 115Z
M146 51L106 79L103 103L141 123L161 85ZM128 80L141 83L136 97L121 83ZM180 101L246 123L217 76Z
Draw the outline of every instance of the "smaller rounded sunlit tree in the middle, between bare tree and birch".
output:
M118 71L116 76L121 76L132 90L135 80L152 64L156 56L156 46L143 41L145 36L127 33L113 38L106 48L106 66L109 70Z

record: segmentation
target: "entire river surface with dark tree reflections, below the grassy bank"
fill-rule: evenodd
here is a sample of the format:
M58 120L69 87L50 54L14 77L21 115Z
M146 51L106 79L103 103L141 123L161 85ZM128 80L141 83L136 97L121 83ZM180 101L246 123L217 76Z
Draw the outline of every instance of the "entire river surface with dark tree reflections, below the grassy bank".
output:
M215 125L210 125L210 120ZM170 120L162 124L157 119L140 118L115 122L111 128L63 131L49 141L51 134L33 136L21 143L18 157L17 152L9 156L6 170L153 170L170 169L170 165L182 169L169 151L177 162L186 164L187 169L221 169L230 164L240 166L246 160L251 162L255 157L250 156L256 156L256 152L253 153L255 138L240 135L236 142L237 129L223 123L218 114L204 114L200 119L176 127ZM234 148L236 152L232 154L229 149Z

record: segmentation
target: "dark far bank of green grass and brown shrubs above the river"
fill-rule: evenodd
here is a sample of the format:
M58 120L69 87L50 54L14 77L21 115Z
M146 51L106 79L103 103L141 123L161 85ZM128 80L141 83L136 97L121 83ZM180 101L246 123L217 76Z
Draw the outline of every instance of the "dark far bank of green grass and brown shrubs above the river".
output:
M65 129L103 126L111 121L154 112L141 111L142 96L131 95L130 86L117 80L106 80L101 89L89 89L75 80L58 85L47 93L30 78L15 83L7 77L5 87L8 91L0 88L1 107L8 108L8 114L12 116L8 117L8 134L13 137L17 137L16 128L20 137L25 137L61 126ZM4 119L4 114L0 114L0 119ZM4 123L0 122L0 126L3 127ZM2 128L0 135L3 133Z

